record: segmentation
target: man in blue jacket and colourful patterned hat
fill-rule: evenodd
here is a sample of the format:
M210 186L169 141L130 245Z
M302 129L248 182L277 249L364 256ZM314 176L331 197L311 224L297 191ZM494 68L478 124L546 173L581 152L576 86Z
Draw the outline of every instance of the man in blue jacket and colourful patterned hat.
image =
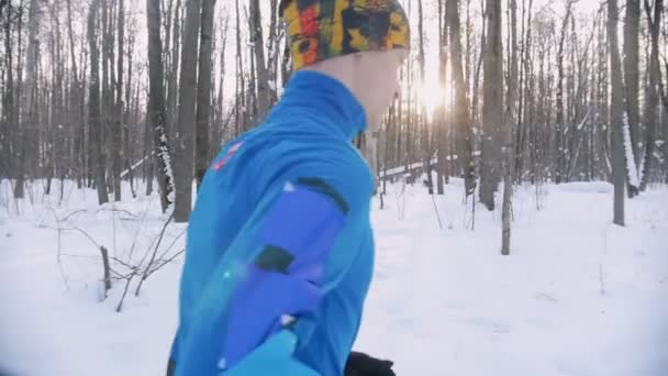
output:
M223 148L188 229L172 375L343 375L371 278L374 178L352 140L398 90L397 0L287 0L293 75Z

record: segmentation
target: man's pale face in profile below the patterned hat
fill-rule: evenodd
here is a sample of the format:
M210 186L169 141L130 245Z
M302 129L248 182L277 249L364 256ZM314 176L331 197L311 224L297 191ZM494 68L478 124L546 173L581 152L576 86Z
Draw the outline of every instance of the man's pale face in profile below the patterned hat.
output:
M366 52L360 54L356 70L355 90L366 111L369 131L376 131L380 119L399 92L399 68L408 49Z

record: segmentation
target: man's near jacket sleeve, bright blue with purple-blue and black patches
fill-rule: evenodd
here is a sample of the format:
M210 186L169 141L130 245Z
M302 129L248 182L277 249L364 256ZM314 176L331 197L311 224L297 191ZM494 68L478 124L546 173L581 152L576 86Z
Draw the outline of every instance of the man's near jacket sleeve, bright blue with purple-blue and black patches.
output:
M336 287L359 247L331 251L342 237L361 242L358 224L368 220L370 184L354 175L296 177L260 202L181 335L176 375L234 369L294 320L316 320L310 313Z

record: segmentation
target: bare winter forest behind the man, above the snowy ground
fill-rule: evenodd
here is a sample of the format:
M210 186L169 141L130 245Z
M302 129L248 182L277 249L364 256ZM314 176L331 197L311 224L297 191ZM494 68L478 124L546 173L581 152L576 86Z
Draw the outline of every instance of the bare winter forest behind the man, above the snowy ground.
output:
M401 95L356 141L380 195L428 170L430 193L461 177L472 204L510 215L514 186L605 180L623 224L625 197L668 179L663 0L403 3ZM2 0L0 23L0 177L15 198L74 180L102 204L127 181L187 221L191 183L291 74L278 0Z

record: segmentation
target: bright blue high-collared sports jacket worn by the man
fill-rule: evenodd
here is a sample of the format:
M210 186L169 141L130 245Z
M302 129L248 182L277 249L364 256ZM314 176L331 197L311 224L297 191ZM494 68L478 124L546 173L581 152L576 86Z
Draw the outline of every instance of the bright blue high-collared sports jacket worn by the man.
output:
M190 215L174 375L261 364L253 352L286 330L291 362L343 375L374 264L374 179L352 144L365 125L344 85L297 71L215 157Z

